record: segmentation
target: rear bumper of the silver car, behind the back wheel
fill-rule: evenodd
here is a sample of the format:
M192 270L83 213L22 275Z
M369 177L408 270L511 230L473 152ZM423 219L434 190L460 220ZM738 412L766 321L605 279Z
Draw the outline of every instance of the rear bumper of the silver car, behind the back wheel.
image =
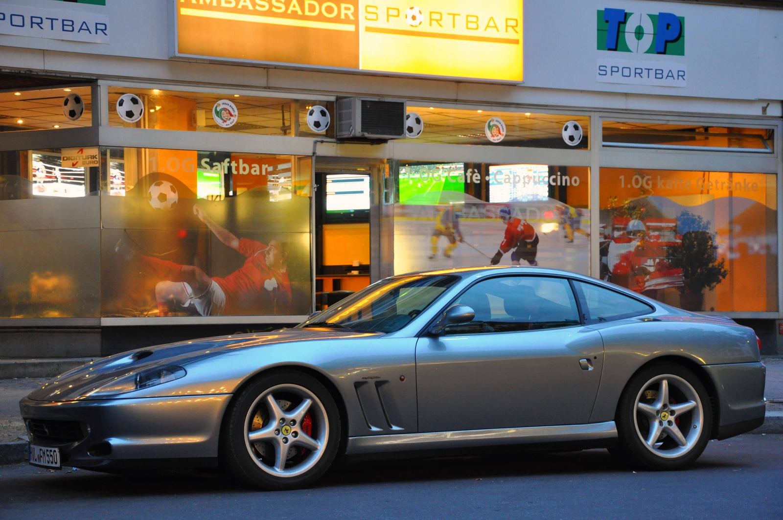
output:
M705 365L717 392L718 428L716 439L728 439L750 432L764 423L766 403L763 363Z

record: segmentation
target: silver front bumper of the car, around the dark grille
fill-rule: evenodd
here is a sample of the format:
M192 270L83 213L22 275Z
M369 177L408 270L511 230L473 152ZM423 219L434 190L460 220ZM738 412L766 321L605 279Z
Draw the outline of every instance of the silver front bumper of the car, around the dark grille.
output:
M19 404L28 432L30 420L81 423L85 434L78 441L60 443L37 438L30 432L31 442L59 447L63 465L100 469L122 466L122 462L132 460L216 459L220 424L231 397L190 395L67 402L24 398ZM106 450L105 443L110 450Z

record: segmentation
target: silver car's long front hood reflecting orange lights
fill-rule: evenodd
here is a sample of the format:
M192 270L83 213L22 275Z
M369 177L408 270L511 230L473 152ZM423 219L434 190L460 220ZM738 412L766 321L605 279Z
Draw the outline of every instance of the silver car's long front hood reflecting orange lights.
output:
M267 345L290 343L297 344L319 340L368 338L381 334L353 332L349 330L328 329L287 329L262 334L233 334L215 338L180 341L169 345L138 348L114 356L96 359L91 363L70 370L55 377L45 385L34 390L28 399L35 401L72 401L90 399L89 394L116 381L120 377L135 374L142 370L164 365L186 367L189 363L211 356L220 356L223 352L236 352L237 349L263 348Z

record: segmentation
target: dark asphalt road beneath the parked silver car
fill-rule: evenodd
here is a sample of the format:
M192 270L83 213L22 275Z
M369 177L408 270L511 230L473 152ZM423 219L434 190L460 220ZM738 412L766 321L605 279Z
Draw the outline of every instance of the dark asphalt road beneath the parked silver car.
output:
M216 474L0 467L0 518L783 518L783 435L709 443L693 468L637 472L605 450L378 461L259 492Z

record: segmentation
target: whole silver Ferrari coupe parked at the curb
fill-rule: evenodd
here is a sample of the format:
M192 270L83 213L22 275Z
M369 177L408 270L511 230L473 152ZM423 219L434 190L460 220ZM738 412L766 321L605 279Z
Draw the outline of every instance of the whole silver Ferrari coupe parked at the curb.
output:
M291 329L71 370L20 402L32 464L220 464L266 489L335 457L607 447L683 468L764 419L753 331L550 269L394 276Z

